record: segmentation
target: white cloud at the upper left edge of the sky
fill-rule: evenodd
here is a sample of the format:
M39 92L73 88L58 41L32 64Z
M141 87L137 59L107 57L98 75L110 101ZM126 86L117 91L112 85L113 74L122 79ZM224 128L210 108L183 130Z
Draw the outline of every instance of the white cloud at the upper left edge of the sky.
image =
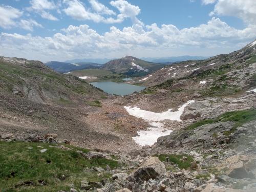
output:
M0 5L0 27L4 29L15 26L15 19L22 16L23 12L11 6Z

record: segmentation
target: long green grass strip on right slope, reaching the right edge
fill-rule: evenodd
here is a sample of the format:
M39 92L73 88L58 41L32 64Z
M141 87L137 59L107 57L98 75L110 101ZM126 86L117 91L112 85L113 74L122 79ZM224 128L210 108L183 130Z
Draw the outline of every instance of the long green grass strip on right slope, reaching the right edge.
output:
M256 119L255 108L250 110L232 111L232 112L226 112L215 119L205 119L205 120L201 120L196 123L193 123L191 125L188 125L186 127L186 130L194 130L195 128L202 126L204 124L233 121L234 125L232 127L232 130L224 133L225 135L230 135L233 131L236 130L237 127L255 119Z

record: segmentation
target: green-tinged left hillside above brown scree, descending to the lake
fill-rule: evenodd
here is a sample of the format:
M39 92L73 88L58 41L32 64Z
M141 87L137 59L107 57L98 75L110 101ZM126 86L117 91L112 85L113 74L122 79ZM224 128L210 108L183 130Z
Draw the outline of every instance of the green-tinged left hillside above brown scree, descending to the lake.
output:
M39 61L29 61L25 65L18 65L0 60L0 88L12 92L14 87L22 89L24 86L29 90L35 89L39 93L44 90L53 95L59 94L60 97L63 95L66 99L103 95L87 82L56 73Z

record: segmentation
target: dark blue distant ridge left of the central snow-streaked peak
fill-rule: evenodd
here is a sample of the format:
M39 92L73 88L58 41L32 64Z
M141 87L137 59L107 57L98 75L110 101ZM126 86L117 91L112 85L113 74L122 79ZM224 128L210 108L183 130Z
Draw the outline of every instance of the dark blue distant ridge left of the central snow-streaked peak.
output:
M59 73L68 73L75 70L82 69L98 69L101 65L93 62L58 62L58 61L49 61L45 63L46 66L53 69Z

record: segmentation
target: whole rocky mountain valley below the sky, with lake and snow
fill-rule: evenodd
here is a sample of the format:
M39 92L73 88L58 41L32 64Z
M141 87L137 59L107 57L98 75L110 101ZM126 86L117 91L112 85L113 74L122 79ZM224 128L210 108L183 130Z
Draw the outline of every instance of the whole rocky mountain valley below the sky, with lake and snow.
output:
M61 73L0 57L3 191L254 191L254 42L167 66L125 56ZM141 89L107 94L109 81ZM8 165L15 154L53 174Z

